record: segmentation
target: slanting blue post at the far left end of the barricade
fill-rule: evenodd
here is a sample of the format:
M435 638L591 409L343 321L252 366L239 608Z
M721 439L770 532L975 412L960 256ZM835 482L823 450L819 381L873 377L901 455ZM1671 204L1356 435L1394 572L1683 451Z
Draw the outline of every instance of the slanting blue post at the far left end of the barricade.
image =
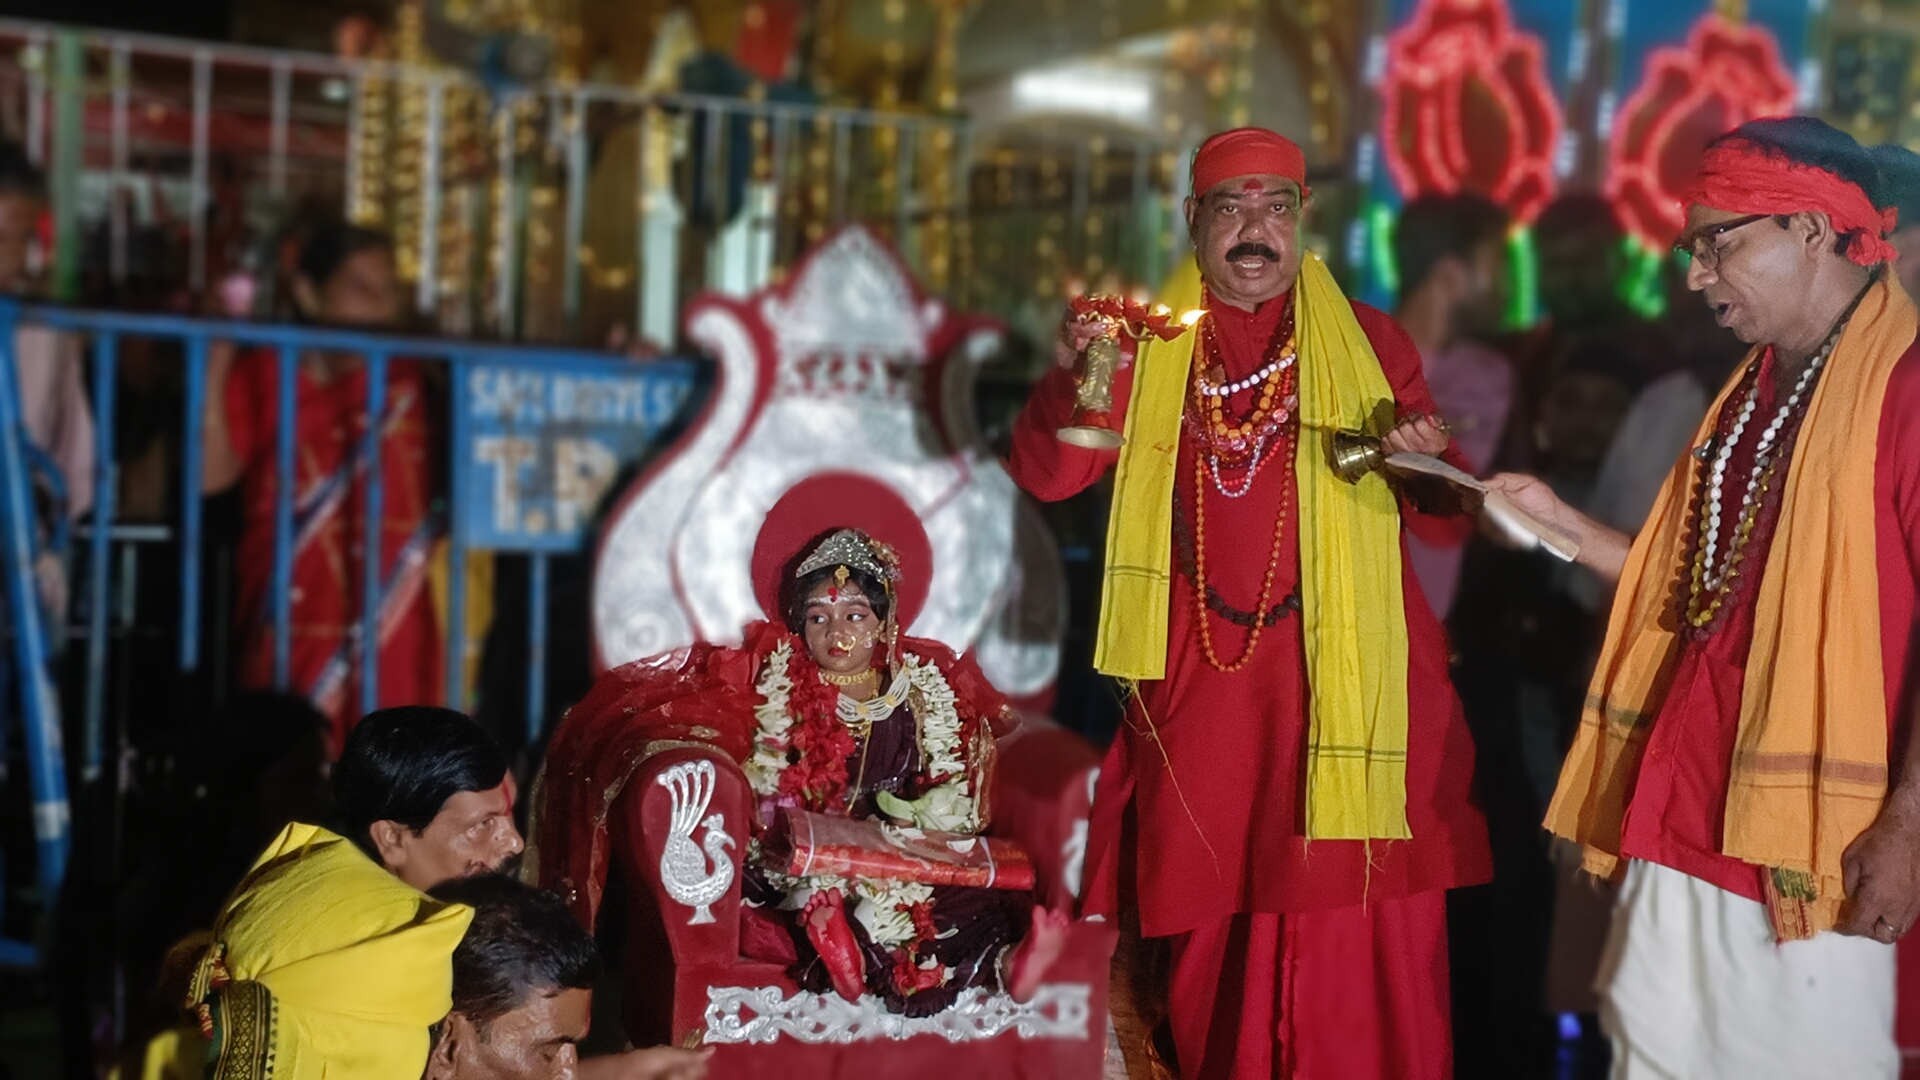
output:
M33 780L33 836L40 855L40 894L48 905L67 876L71 817L67 763L60 740L60 701L46 669L46 625L33 580L33 488L27 477L19 413L13 331L19 306L0 298L0 546L6 548L6 596L13 619L13 657L21 713L27 721L27 769Z

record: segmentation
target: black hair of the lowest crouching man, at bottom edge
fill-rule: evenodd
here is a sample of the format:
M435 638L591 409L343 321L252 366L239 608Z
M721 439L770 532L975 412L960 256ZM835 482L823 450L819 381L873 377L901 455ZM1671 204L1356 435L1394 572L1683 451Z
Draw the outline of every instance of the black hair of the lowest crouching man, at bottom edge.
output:
M493 1020L536 994L593 990L599 982L593 936L559 896L505 874L455 878L428 896L474 909L467 936L453 949L453 1011L482 1038Z

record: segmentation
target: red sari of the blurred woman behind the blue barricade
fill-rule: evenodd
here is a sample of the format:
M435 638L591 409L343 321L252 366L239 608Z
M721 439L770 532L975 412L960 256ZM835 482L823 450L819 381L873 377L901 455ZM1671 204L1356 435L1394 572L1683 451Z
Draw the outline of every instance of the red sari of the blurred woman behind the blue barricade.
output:
M273 686L273 544L278 490L278 361L273 350L234 357L227 382L227 429L244 463L244 517L236 555L240 678ZM426 380L407 361L388 367L386 434L380 452L380 615L378 705L438 703L444 698L444 648L426 561L432 555L432 503ZM300 367L294 407L292 688L313 698L334 723L340 753L361 715L359 617L365 536L367 369L319 382Z

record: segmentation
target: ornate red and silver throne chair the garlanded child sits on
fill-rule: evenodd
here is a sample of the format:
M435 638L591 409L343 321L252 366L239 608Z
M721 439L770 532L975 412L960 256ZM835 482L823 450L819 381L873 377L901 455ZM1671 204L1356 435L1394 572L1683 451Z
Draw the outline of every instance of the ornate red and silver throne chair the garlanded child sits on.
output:
M972 421L973 367L996 331L922 296L854 227L783 286L695 300L687 332L718 357L716 384L603 527L597 661L739 642L743 625L778 621L766 567L793 552L770 550L768 536L856 525L924 548L931 573L900 596L908 634L972 651L1016 701L1043 700L1058 663L1058 555ZM770 932L741 903L755 796L735 753L707 742L716 734L693 724L684 736L614 746L563 723L538 803L540 880L620 940L622 1022L636 1045L716 1045L716 1078L887 1067L1098 1076L1114 947L1100 922L1069 926L1031 1001L973 990L933 1017L808 994L787 965L747 959L768 955L755 944ZM1043 721L998 746L989 832L1029 853L1037 901L1060 911L1079 892L1096 769L1085 740ZM557 799L568 784L572 798ZM578 824L549 821L563 803L597 815L603 844L555 851L566 840L553 838Z

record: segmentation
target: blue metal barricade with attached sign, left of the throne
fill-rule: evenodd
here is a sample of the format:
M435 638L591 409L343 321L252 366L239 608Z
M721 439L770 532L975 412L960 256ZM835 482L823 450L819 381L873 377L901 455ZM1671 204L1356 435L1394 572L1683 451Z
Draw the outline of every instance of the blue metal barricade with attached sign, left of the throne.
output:
M540 736L543 688L547 682L547 559L578 552L601 496L626 465L641 457L682 415L701 380L701 363L624 357L543 346L501 346L468 340L407 338L313 327L255 325L188 319L177 315L131 315L81 311L0 298L0 553L12 617L12 667L19 686L21 717L27 732L35 826L38 838L38 880L42 896L54 897L65 872L69 851L67 774L61 753L61 721L56 684L48 667L50 626L35 590L36 521L27 465L27 436L21 417L15 336L23 325L83 336L92 344L94 444L94 527L86 532L86 577L75 590L84 611L84 724L77 732L83 776L98 778L106 765L106 709L109 611L115 588L113 546L132 542L127 530L111 528L117 513L117 473L113 467L117 363L134 338L171 342L184 354L184 423L179 479L179 650L177 667L196 671L200 655L204 592L202 582L202 425L207 407L209 357L217 346L265 350L263 361L276 363L275 438L271 467L276 473L273 507L273 563L267 611L273 628L273 680L292 686L290 642L294 632L296 563L296 457L300 411L300 365L309 352L359 356L367 363L369 390L365 436L351 475L363 477L365 534L357 544L359 623L349 634L349 651L359 667L359 711L378 701L380 605L392 584L382 580L382 484L384 417L388 375L396 359L442 363L449 375L447 425L447 703L465 707L467 640L465 619L467 559L470 552L524 552L530 559L528 607L528 740ZM367 563L371 559L371 563ZM397 575L396 575L397 577ZM56 615L58 623L58 615ZM0 709L6 705L0 703ZM0 957L4 959L4 957Z

